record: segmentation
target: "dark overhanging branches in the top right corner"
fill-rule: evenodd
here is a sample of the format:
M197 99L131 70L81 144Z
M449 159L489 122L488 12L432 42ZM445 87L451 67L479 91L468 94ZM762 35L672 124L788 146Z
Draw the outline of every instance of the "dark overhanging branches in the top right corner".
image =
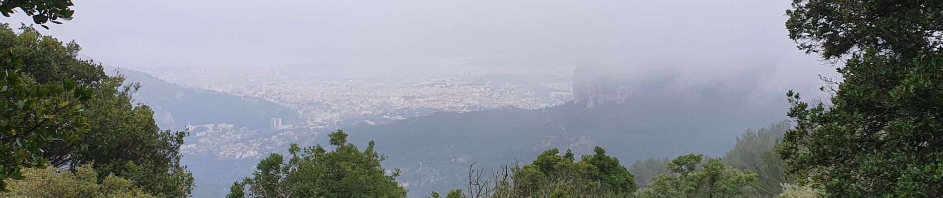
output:
M793 0L786 15L789 38L827 59L869 48L915 57L943 47L940 0Z

